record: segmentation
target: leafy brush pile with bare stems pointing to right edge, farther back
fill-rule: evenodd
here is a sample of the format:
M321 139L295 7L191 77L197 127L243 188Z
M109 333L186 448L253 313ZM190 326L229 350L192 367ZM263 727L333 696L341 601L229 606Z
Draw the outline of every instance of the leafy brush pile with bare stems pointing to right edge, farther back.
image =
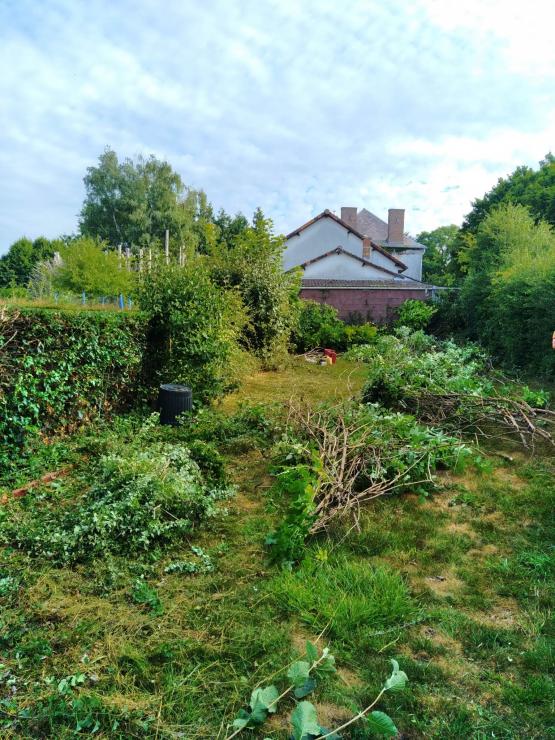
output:
M413 414L449 433L510 436L555 445L548 395L508 382L473 345L438 344L421 332L384 336L353 351L368 365L363 400Z

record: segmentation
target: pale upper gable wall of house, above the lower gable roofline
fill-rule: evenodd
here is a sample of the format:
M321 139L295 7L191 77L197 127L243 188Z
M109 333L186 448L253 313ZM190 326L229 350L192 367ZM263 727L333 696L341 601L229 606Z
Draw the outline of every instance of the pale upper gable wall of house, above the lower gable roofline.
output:
M336 247L343 247L347 252L362 257L362 239L347 231L332 218L321 218L301 231L298 236L292 236L287 240L283 253L283 267L285 270L290 270ZM383 259L386 260L389 268L393 266L390 260L385 257ZM328 277L334 276L328 275Z

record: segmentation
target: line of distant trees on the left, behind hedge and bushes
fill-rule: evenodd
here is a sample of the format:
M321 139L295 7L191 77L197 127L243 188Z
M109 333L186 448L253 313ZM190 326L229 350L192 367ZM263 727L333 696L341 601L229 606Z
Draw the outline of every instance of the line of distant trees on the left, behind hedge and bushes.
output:
M81 266L88 258L90 272L97 274L92 288L110 292L125 285L114 285L113 276L107 285L99 285L98 273L109 264L100 264L102 259L95 254L93 242L103 252L119 247L136 254L141 249L162 249L168 230L171 254L180 250L206 254L218 246L232 247L249 227L242 213L232 216L223 209L215 212L202 190L185 186L168 162L152 156L120 161L116 152L107 148L98 164L87 169L84 183L78 234L54 240L18 239L0 258L0 288L27 287L34 269L51 260L56 252L69 260L71 254L81 252ZM79 270L72 269L72 273L78 277ZM70 282L66 275L62 287L70 289ZM85 284L73 287L91 289Z

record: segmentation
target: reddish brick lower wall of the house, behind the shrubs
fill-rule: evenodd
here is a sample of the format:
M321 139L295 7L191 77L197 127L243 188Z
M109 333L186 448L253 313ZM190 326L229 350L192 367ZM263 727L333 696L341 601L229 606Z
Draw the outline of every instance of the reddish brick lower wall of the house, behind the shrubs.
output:
M384 324L395 318L395 309L404 301L425 301L428 295L425 290L373 290L371 288L303 288L301 298L306 301L318 301L335 306L339 317L348 319L349 314L361 314L362 318L376 324Z

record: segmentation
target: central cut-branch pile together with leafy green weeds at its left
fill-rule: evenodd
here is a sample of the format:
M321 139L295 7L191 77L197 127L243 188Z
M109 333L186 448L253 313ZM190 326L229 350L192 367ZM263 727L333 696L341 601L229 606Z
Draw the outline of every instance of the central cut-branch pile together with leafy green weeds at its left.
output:
M291 567L302 559L307 537L337 517L356 524L361 508L381 496L409 489L427 495L438 468L462 469L471 457L459 439L378 404L292 406L274 494L290 503L266 541L272 558Z

